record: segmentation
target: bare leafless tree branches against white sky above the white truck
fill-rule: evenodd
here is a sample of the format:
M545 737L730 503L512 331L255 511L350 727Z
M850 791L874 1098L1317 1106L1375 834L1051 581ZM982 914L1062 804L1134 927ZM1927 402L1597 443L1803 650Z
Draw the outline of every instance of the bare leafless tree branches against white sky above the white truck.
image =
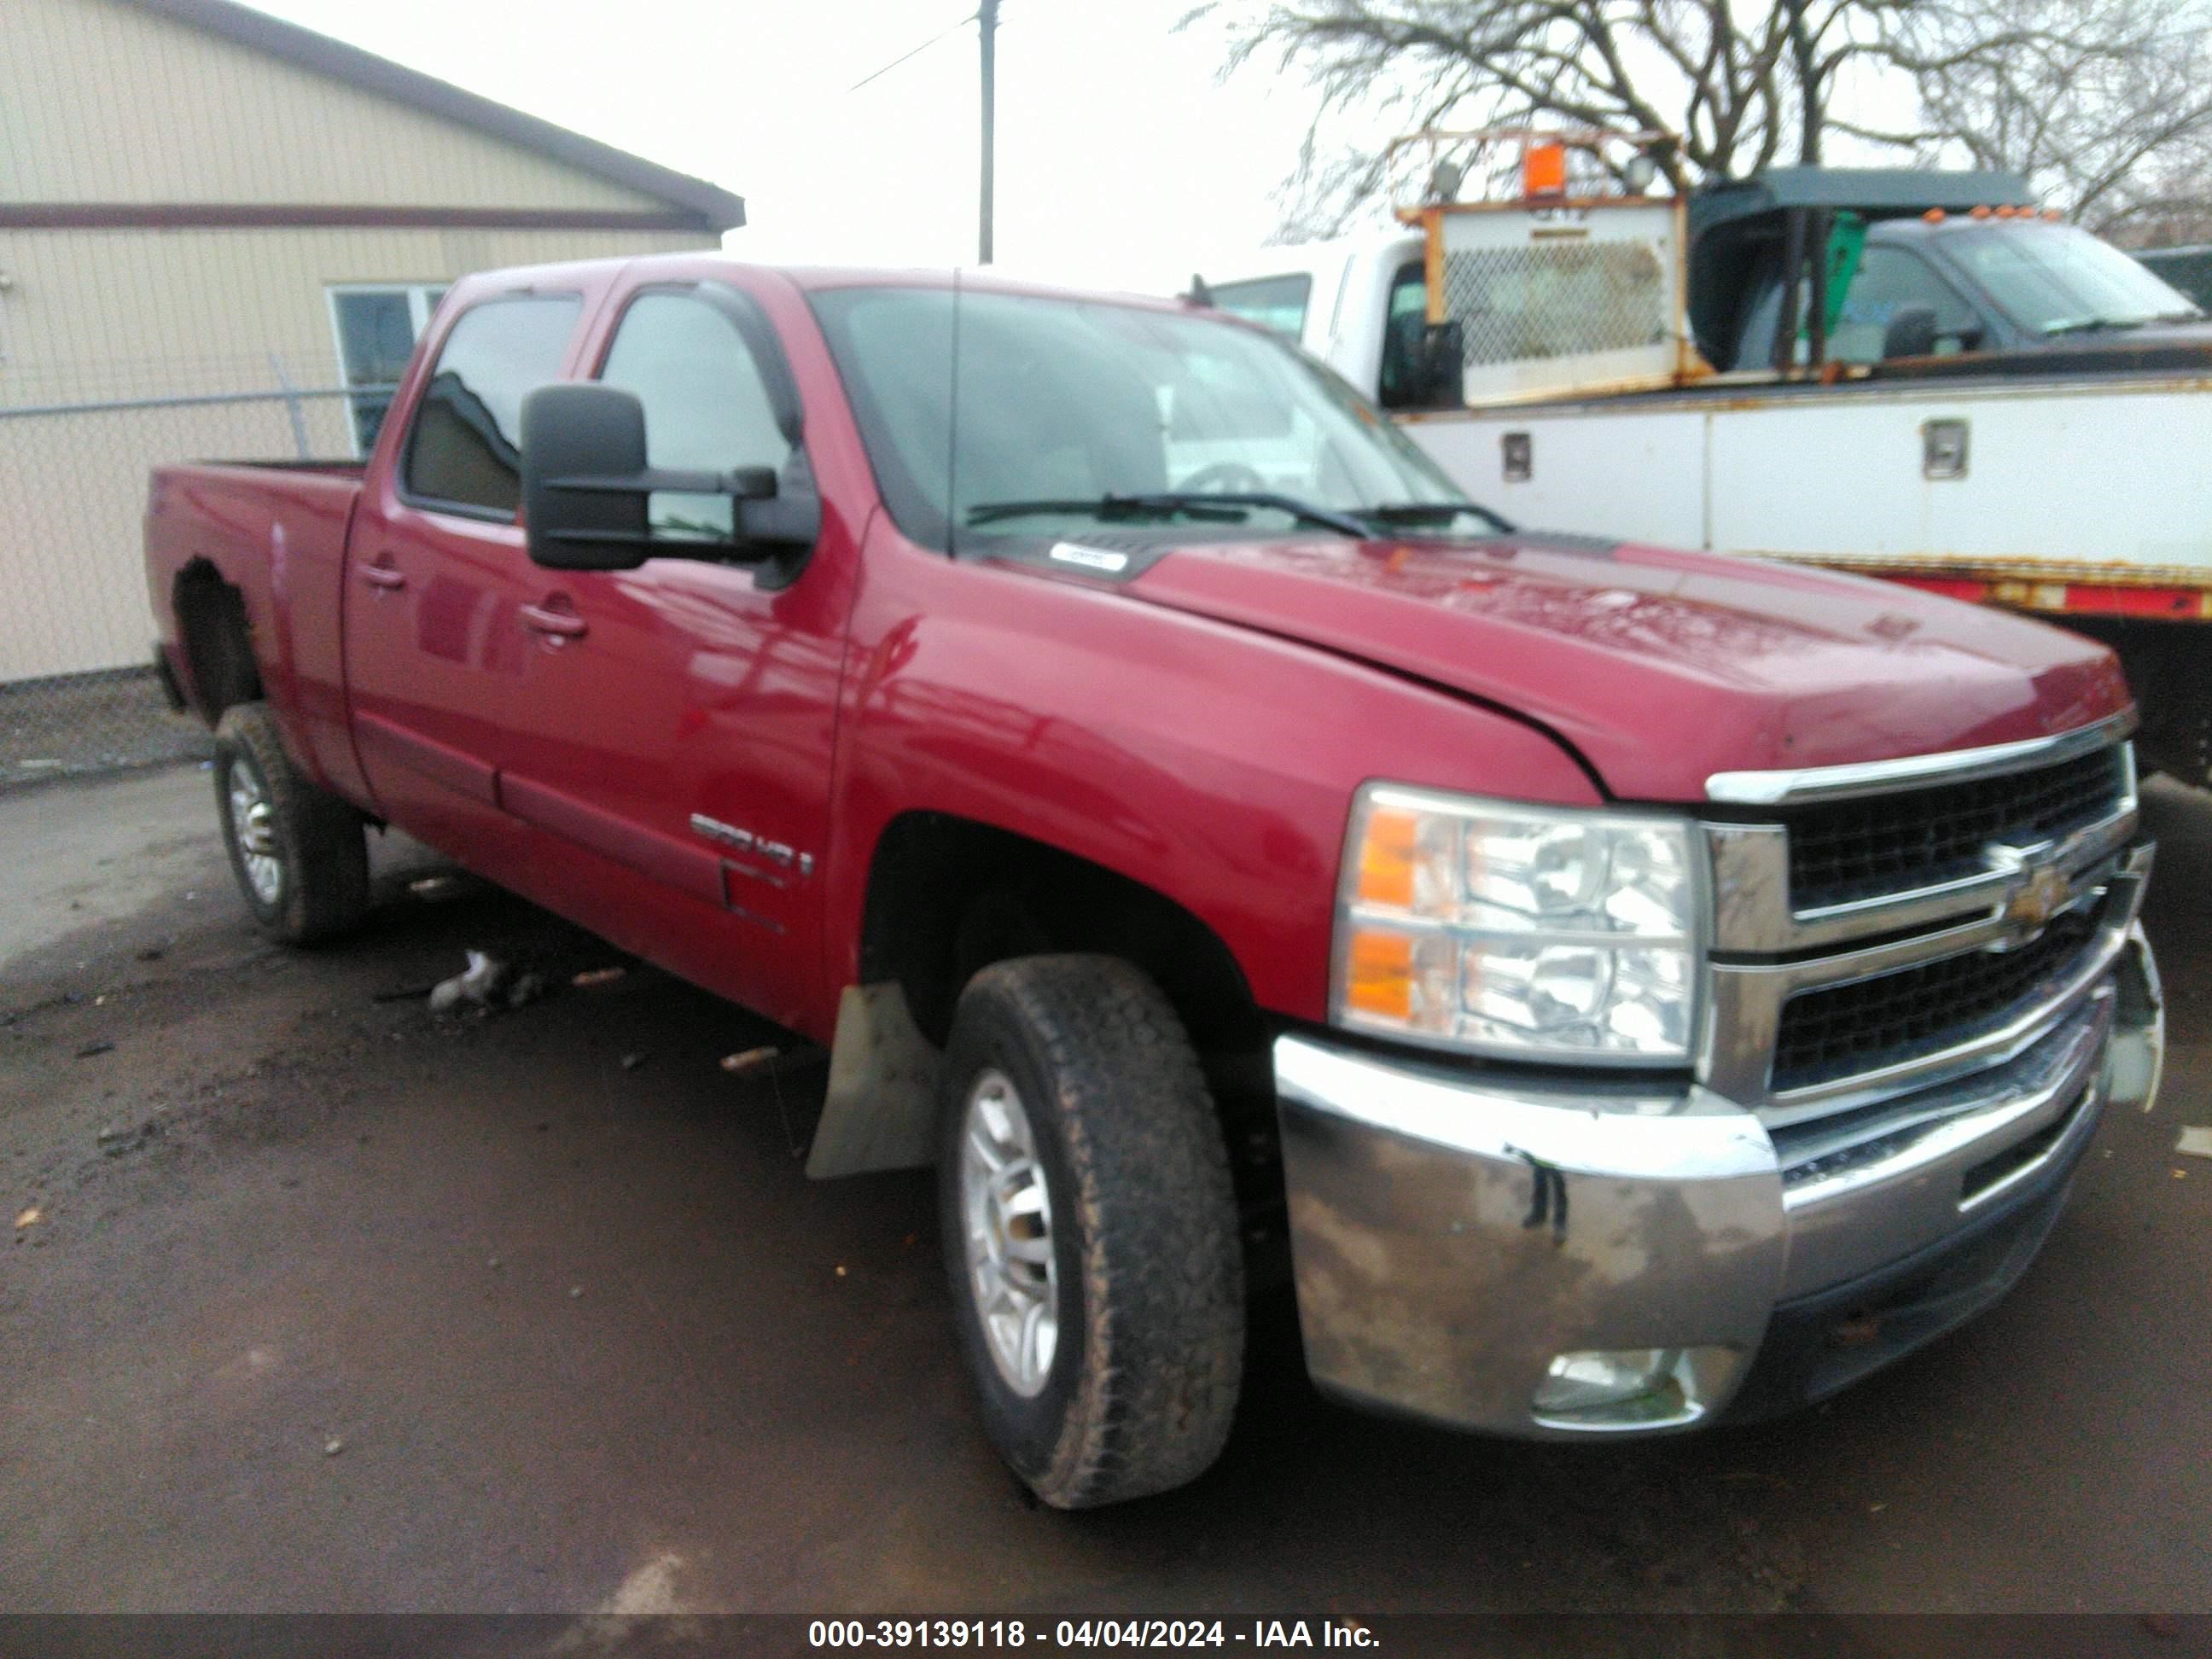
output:
M2024 170L2112 228L2212 170L2212 0L2181 4L2194 27L2174 0L1210 0L1183 24L1223 33L1223 73L1318 93L1283 204L1298 232L1380 190L1376 135L1442 124L1672 131L1677 190L1820 161L1836 133ZM1867 115L1882 104L1900 124Z

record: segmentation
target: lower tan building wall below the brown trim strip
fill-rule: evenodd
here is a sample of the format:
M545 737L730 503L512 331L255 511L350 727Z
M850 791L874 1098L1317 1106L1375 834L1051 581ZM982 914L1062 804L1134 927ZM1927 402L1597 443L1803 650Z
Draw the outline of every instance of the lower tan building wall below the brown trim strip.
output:
M330 283L451 281L712 241L580 230L0 234L0 268L15 279L0 292L0 684L146 661L139 515L155 465L352 453L343 398L97 405L341 385ZM53 405L93 407L7 414Z

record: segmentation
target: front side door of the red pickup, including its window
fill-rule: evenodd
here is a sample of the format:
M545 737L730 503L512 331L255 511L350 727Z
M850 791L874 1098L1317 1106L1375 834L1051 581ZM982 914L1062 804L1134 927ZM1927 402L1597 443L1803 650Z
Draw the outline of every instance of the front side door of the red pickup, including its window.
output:
M761 352L781 352L765 312L717 268L628 294L597 378L637 394L653 467L770 467L812 489L768 394L790 369ZM580 920L792 1020L821 971L849 531L827 513L803 560L750 564L717 551L728 498L657 493L648 518L668 553L635 571L529 566L524 615L544 630L502 796L549 832Z

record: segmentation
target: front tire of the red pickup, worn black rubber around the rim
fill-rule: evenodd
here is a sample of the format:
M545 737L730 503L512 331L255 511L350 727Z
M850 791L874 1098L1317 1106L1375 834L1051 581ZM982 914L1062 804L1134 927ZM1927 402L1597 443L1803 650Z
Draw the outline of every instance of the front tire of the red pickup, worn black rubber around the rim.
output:
M1053 1214L1060 1340L1029 1398L991 1358L962 1221L967 1102L991 1071L1020 1095ZM1037 1498L1091 1509L1212 1467L1243 1376L1237 1194L1199 1060L1150 978L1110 956L1026 956L967 984L938 1214L984 1429Z

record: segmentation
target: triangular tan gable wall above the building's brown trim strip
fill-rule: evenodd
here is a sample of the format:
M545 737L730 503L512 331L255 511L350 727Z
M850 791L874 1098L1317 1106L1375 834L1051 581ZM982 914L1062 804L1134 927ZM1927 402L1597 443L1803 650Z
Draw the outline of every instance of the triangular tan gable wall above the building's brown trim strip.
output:
M124 0L0 0L0 201L668 206Z

